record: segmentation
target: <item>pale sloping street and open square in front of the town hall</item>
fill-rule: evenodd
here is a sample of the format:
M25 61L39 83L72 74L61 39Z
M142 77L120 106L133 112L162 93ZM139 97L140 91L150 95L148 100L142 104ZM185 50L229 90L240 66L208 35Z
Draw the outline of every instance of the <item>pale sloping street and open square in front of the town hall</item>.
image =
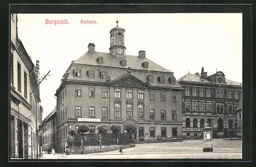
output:
M203 152L202 140L136 144L134 148L93 154L44 154L42 159L241 159L242 140L214 139L213 152Z

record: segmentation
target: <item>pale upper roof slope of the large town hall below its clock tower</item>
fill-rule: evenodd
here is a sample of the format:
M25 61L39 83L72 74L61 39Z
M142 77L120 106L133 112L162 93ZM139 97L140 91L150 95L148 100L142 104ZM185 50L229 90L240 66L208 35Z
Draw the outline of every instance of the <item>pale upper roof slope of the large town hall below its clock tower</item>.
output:
M97 62L98 57L104 58L102 64L99 64ZM124 59L127 61L125 66L120 64L120 61L122 59L116 58L116 57L112 56L110 53L87 52L84 55L82 55L79 59L74 61L73 63L88 64L88 65L101 65L101 66L119 67L119 68L131 67L132 69L153 70L153 71L163 71L163 72L167 72L167 73L173 73L172 71L165 69L164 67L158 65L157 63L155 63L147 58L141 59L138 56L126 55L126 57ZM148 68L145 68L142 66L142 63L145 61L148 62Z

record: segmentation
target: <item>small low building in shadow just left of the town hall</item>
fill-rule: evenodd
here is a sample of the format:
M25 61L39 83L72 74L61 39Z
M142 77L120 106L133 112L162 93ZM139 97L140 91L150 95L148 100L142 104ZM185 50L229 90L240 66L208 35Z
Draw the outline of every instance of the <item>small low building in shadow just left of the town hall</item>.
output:
M57 133L57 114L55 109L42 121L42 150L47 151L48 148L54 148Z

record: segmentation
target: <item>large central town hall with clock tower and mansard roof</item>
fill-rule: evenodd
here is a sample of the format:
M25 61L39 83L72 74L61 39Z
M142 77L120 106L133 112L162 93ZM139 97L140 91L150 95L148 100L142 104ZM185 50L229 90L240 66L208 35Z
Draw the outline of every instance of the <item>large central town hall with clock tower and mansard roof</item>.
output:
M118 26L110 31L110 53L95 52L89 43L88 52L63 75L55 94L60 152L67 133L84 124L93 133L99 126L110 133L112 125L124 131L131 124L137 140L181 137L183 88L172 71L147 59L145 51L126 55L124 32Z

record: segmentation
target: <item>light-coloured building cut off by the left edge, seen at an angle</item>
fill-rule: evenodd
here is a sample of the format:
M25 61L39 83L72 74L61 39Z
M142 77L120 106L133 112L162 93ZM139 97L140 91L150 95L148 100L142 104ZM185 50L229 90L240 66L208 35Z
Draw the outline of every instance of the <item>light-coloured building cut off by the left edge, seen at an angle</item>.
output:
M39 61L34 66L17 33L17 14L11 14L10 41L10 157L38 158L42 107L38 85Z

